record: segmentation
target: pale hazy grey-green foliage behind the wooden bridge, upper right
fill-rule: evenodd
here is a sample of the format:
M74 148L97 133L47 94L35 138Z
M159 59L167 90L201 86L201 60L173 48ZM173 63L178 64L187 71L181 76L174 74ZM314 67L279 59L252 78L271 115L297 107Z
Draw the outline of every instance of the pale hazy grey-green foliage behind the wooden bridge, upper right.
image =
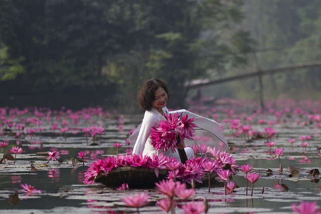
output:
M256 40L256 61L243 72L321 61L321 2L246 0L244 29ZM266 99L318 99L320 68L296 69L263 77ZM240 72L235 71L235 72ZM235 83L237 97L257 98L257 78Z

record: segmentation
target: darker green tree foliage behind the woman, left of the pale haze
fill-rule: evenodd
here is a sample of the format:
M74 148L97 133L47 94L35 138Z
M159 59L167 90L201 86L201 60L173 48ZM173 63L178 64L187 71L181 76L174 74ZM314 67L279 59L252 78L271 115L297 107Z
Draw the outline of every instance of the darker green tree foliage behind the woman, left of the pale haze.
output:
M2 0L2 80L35 91L116 86L131 106L143 81L165 79L173 106L186 83L247 63L240 0ZM15 69L13 69L15 68ZM111 95L110 95L111 96Z

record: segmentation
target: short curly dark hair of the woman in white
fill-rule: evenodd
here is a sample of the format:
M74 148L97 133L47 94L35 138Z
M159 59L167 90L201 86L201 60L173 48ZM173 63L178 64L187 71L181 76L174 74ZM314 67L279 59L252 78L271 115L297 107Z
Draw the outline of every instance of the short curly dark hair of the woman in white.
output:
M139 106L143 110L149 111L152 107L151 103L155 100L155 91L159 88L163 87L167 93L168 99L170 99L170 93L167 86L167 83L162 79L150 79L144 82L141 86L137 100Z

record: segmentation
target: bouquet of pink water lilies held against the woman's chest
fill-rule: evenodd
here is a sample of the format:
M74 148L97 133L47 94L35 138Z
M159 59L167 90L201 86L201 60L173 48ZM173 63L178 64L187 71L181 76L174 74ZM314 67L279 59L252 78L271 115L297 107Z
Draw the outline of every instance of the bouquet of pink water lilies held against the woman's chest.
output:
M174 152L175 148L178 148L179 140L183 141L185 138L193 140L194 128L197 127L193 121L196 118L188 118L188 115L182 116L179 113L165 114L164 116L166 120L161 120L156 128L151 128L151 145L156 151L172 149Z

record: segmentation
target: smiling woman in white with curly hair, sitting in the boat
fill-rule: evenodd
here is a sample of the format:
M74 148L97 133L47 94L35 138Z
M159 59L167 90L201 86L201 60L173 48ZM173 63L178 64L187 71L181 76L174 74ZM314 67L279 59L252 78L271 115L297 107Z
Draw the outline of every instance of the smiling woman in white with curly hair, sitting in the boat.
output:
M168 86L161 79L147 80L140 88L137 99L139 106L145 110L145 114L133 148L133 154L139 155L139 153L142 153L152 157L153 154L158 155L163 152L166 156L181 160L177 149L175 149L174 153L171 149L167 151L160 149L156 152L151 145L151 127L157 127L161 120L166 120L164 114L169 114L169 110L166 107L169 98ZM180 149L184 148L188 159L194 156L194 150L190 147L185 148L184 141L178 143L177 146Z

